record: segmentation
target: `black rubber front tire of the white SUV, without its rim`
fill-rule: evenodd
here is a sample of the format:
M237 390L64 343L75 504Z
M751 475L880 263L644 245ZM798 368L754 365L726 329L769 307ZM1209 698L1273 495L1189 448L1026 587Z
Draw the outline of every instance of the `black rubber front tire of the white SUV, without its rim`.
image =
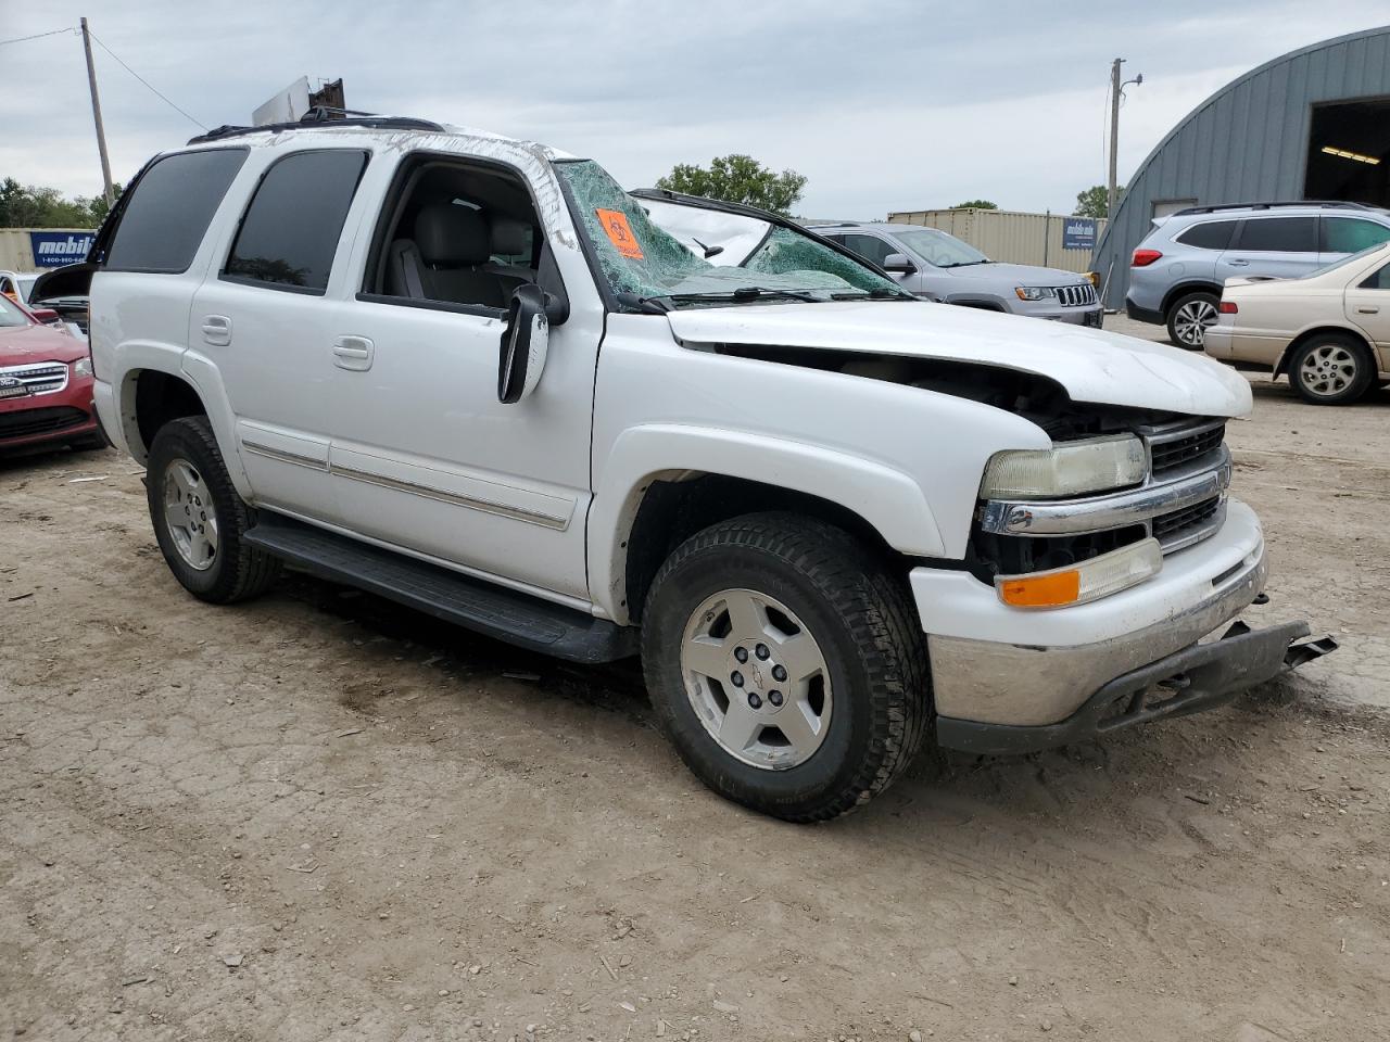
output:
M820 746L796 766L737 759L687 693L687 625L723 590L780 600L819 645L834 711ZM902 578L842 529L795 514L749 514L681 543L646 597L642 665L662 729L691 771L721 796L787 821L834 818L883 792L931 721L926 638Z

